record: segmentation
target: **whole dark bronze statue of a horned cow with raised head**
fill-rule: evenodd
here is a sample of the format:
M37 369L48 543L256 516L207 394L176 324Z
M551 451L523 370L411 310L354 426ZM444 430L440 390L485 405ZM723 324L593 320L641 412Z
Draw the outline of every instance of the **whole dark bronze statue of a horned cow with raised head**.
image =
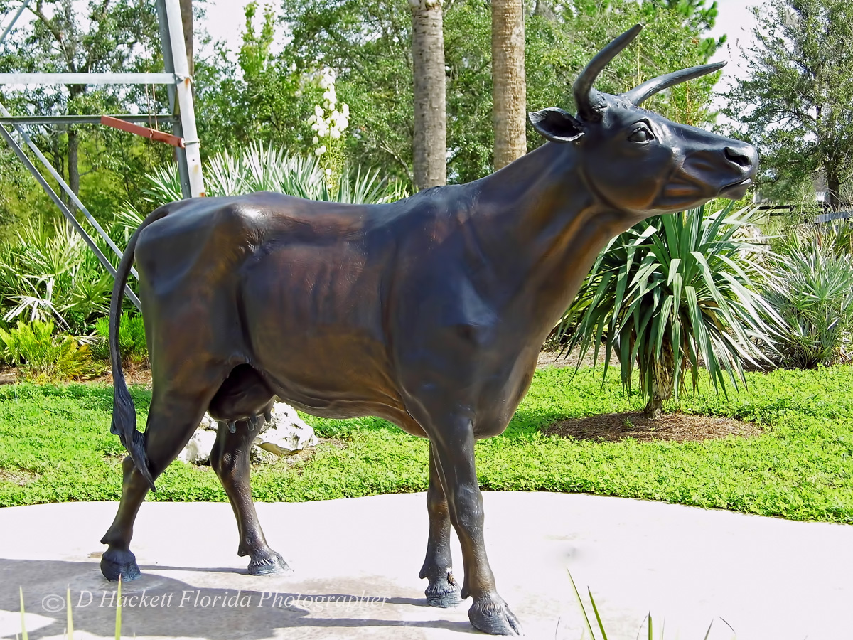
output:
M221 421L211 463L235 512L237 553L252 574L289 570L264 539L249 485L252 431L278 397L314 416L380 416L429 439L427 602L471 596L473 626L520 633L486 557L475 440L507 427L544 340L610 238L654 213L740 198L757 171L749 144L639 107L722 64L619 96L593 89L640 30L577 78L577 117L531 113L550 142L481 180L386 205L256 193L173 202L146 218L113 288L112 432L130 457L102 539L107 579L139 576L136 512L205 411ZM154 379L144 434L117 343L134 260Z

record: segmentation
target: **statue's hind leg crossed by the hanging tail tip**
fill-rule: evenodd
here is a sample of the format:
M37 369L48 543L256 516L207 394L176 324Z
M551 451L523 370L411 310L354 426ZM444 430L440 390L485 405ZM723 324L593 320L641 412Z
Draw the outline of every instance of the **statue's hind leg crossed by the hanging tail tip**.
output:
M145 429L145 453L154 479L163 473L187 445L215 390L213 387L210 393L194 395L155 393L148 410L148 425ZM118 580L119 576L122 580L135 580L140 576L136 557L130 547L133 522L148 494L148 482L142 478L130 457L125 457L123 467L125 474L119 512L101 539L102 544L109 545L101 556L101 572L107 580Z

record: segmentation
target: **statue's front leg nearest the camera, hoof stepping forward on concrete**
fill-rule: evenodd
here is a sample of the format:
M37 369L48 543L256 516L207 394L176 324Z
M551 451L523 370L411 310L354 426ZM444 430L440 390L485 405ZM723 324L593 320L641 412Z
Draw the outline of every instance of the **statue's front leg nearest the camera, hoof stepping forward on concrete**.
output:
M480 631L496 636L521 634L519 620L498 595L483 540L483 496L474 468L474 434L471 420L451 416L431 421L427 431L435 452L438 473L444 479L450 521L459 536L465 579L461 596L471 596L468 620Z

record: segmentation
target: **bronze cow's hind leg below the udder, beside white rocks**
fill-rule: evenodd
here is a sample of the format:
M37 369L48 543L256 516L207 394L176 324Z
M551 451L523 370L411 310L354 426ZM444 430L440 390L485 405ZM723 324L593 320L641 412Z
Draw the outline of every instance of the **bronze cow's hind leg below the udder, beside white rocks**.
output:
M249 421L237 422L234 433L220 422L216 444L211 451L211 466L222 482L231 509L234 509L237 529L240 532L237 555L251 558L249 573L289 573L291 568L287 566L287 562L267 544L258 522L255 505L252 503L250 454L254 439L255 432Z

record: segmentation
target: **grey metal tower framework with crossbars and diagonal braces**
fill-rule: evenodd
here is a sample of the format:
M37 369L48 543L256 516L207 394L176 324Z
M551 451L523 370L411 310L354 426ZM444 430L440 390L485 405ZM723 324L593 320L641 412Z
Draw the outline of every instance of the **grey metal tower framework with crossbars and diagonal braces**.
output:
M31 0L22 0L20 7L12 16L12 20L3 29L0 35L0 42L9 34L15 26L15 22L20 18ZM20 161L26 166L26 169L32 173L44 191L54 201L56 207L62 212L62 215L67 218L68 223L77 230L78 234L83 237L86 244L95 253L97 259L101 262L107 271L113 277L116 272L112 263L107 259L107 256L97 246L96 241L84 229L83 225L69 210L61 197L56 194L51 187L44 173L38 169L30 160L21 147L18 140L12 135L11 131L6 127L9 126L13 131L16 131L19 140L22 140L26 147L30 148L32 154L36 157L39 163L43 166L44 172L52 177L59 185L60 189L65 192L69 201L73 202L74 207L83 214L84 218L90 223L92 228L96 230L98 236L107 243L107 246L119 258L122 255L119 247L115 245L113 240L107 236L97 220L92 217L91 213L80 201L78 196L62 179L59 172L55 170L47 158L44 157L32 138L22 128L23 125L81 125L81 124L108 124L125 129L125 131L138 131L141 127L136 125L122 125L122 123L144 123L149 122L152 118L165 119L171 121L172 136L162 134L159 131L148 131L148 137L160 139L170 143L175 147L177 156L178 172L181 177L181 189L184 198L198 197L205 195L204 180L201 175L201 156L199 152L199 139L195 129L195 113L193 105L192 79L189 76L189 66L187 63L187 51L183 41L183 24L181 22L181 9L179 0L156 0L157 17L160 22L160 41L163 47L163 59L165 61L165 73L0 73L0 84L165 84L169 94L169 108L171 114L119 114L110 116L89 116L89 115L59 115L59 116L13 116L9 111L0 104L0 137L9 144L9 147L20 158ZM116 120L119 120L117 123ZM131 270L136 276L136 270ZM131 289L125 288L125 295L129 300L140 307L139 300Z

